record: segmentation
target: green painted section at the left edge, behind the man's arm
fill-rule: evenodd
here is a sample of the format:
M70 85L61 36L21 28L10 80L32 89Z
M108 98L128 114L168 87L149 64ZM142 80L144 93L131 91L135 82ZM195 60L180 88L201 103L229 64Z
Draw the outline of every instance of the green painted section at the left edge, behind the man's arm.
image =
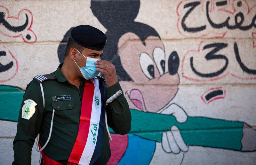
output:
M0 85L0 120L18 121L24 91Z

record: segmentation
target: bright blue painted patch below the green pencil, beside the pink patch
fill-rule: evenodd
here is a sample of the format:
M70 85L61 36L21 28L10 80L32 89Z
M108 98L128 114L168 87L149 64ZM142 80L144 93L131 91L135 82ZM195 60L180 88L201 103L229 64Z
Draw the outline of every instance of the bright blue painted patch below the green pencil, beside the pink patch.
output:
M134 165L149 164L156 148L156 142L140 138L136 135L128 135L126 152L118 164Z

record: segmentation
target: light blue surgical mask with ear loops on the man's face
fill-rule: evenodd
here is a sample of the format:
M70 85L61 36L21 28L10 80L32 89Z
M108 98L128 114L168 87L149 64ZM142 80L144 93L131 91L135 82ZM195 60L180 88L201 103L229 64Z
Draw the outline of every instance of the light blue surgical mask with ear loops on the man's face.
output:
M78 50L77 50L78 51ZM78 51L80 53L80 51ZM82 53L80 53L82 56L84 56ZM84 56L85 57L85 56ZM100 72L97 71L96 65L94 64L98 59L85 57L86 58L86 66L85 67L79 67L82 75L86 80L92 79L96 77ZM74 60L75 61L75 60ZM75 61L76 63L76 61Z

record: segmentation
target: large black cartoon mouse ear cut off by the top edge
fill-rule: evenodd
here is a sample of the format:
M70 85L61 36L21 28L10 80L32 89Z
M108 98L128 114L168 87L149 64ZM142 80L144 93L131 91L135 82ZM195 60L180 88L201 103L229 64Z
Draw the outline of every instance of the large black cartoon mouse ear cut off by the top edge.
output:
M92 13L107 29L126 26L134 22L140 9L140 1L91 1Z

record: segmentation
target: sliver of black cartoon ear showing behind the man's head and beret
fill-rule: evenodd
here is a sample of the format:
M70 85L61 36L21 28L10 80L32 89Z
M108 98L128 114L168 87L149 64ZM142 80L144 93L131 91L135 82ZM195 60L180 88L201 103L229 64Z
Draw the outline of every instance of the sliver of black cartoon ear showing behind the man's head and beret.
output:
M64 62L65 51L66 51L66 48L67 48L67 42L68 42L68 39L69 39L69 37L71 35L71 30L73 28L75 28L75 27L72 27L72 28L70 28L67 31L67 33L63 36L63 39L62 39L62 41L59 44L59 47L58 47L58 58L59 58L60 63Z

